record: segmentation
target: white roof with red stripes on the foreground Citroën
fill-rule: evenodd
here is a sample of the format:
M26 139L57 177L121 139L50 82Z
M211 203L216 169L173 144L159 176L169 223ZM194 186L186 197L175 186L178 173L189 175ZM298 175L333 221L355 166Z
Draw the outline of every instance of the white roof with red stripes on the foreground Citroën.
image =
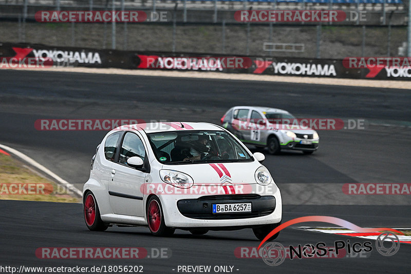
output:
M177 131L177 130L221 130L221 127L211 123L194 122L154 122L120 126L114 130L136 129L146 133Z

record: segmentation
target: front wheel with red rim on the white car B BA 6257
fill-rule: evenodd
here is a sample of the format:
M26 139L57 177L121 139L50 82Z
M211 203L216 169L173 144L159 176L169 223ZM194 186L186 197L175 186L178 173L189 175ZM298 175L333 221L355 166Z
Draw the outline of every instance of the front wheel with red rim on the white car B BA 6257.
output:
M163 208L157 196L152 196L148 200L146 216L148 229L154 236L164 237L174 234L174 228L165 226Z

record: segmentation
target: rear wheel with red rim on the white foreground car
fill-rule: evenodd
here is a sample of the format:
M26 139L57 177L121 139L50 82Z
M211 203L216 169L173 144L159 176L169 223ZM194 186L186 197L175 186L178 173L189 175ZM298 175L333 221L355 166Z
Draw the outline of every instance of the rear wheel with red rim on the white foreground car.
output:
M83 201L84 222L92 231L104 231L108 226L101 220L99 205L91 191L87 191Z

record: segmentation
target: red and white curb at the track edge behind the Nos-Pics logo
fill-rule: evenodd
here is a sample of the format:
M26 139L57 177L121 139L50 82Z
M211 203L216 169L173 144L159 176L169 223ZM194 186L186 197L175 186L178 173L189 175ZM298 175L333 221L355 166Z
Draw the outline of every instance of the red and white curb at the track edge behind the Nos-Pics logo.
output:
M381 232L359 233L359 232L346 229L346 228L325 227L325 226L321 226L321 227L302 226L302 227L298 227L298 229L304 229L307 231L321 232L321 233L327 233L327 234L335 234L335 235L341 235L341 236L363 238L363 239L369 239L369 240L377 240L377 237L381 234ZM400 230L401 232L411 231L411 228L394 228L394 229ZM411 244L411 236L397 234L397 237L400 240L400 243ZM390 240L387 239L385 241L390 241Z

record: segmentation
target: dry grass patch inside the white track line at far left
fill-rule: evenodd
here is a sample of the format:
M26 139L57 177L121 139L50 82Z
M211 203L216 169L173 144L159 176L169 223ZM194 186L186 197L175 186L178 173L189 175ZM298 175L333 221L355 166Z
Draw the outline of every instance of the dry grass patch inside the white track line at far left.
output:
M79 202L64 192L61 186L39 176L22 162L0 153L0 200Z

